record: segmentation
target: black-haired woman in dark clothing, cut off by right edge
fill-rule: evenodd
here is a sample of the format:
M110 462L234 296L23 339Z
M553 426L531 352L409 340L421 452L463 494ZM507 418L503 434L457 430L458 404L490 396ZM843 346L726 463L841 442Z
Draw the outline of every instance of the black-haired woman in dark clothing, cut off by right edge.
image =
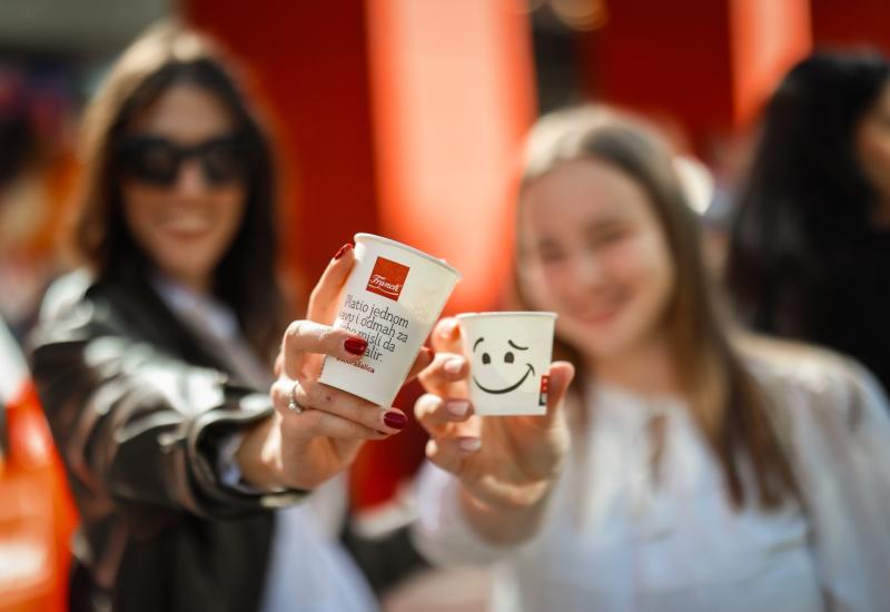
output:
M861 361L890 389L890 62L818 53L770 100L726 282L754 329Z

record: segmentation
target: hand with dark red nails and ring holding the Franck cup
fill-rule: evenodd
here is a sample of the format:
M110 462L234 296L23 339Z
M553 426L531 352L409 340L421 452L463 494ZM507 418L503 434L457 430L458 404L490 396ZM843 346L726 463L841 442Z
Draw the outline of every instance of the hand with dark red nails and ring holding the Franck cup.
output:
M376 406L318 382L325 355L357 361L367 348L360 336L332 326L355 265L352 245L338 255L313 289L306 319L291 323L281 339L278 378L270 392L276 413L265 425L261 447L246 442L239 450L243 466L250 464L251 452L261 455L263 468L255 477L245 472L255 484L313 488L346 468L366 440L386 438L407 423L398 408ZM431 361L429 352L423 351L409 377Z

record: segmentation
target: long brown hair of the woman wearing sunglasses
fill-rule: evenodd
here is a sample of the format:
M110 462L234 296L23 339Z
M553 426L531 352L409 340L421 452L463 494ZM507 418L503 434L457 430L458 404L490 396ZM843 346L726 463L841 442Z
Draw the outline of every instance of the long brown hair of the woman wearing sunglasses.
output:
M234 309L248 342L265 358L274 351L281 313L273 154L226 61L208 39L172 22L151 28L123 52L86 111L75 248L99 278L145 277L154 264L125 223L117 145L170 87L189 83L212 93L234 117L251 161L241 225L214 270L212 292Z

